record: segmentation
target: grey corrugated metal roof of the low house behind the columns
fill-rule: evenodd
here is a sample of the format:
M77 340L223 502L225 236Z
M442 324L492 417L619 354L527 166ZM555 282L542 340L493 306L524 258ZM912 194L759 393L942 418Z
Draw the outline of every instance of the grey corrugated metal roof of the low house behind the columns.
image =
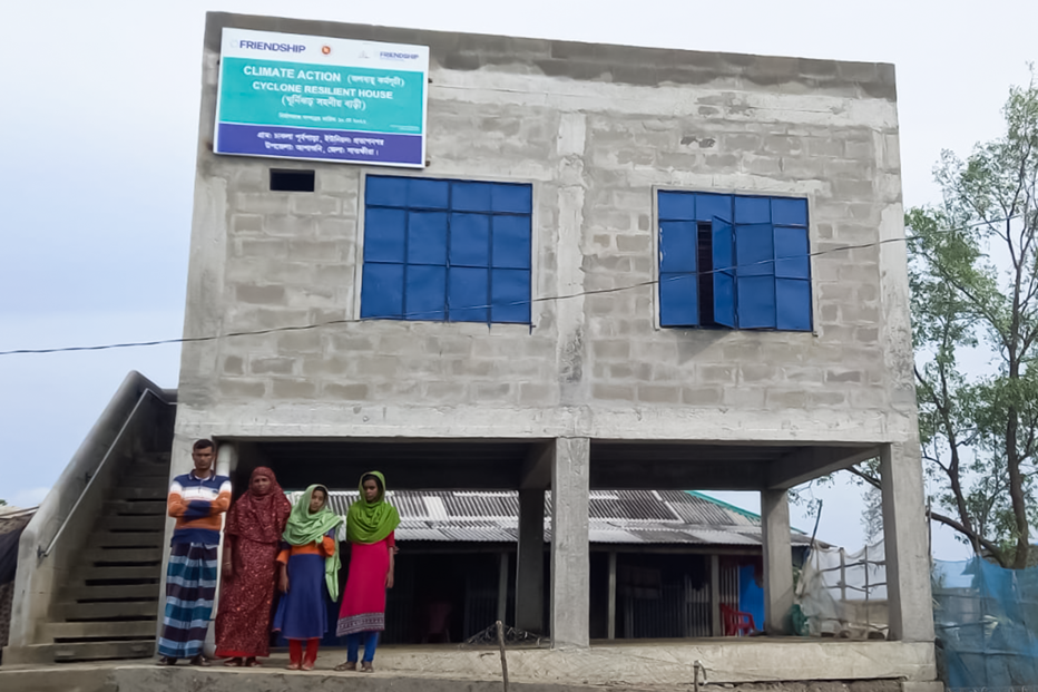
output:
M300 494L291 493L294 500ZM345 515L356 491L333 490L332 511ZM515 543L519 496L513 491L390 491L400 511L396 538L452 543ZM588 537L601 544L761 545L756 515L680 490L594 490L589 497ZM551 494L546 494L545 539L551 534ZM345 537L345 530L340 536ZM793 545L810 539L797 533Z

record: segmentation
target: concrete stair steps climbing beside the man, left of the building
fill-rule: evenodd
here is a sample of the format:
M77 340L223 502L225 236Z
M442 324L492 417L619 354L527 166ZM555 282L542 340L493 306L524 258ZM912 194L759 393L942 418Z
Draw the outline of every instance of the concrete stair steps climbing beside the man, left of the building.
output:
M48 651L56 662L153 655L168 478L168 454L138 455L119 477L41 625L46 643L33 646L40 649L33 657Z

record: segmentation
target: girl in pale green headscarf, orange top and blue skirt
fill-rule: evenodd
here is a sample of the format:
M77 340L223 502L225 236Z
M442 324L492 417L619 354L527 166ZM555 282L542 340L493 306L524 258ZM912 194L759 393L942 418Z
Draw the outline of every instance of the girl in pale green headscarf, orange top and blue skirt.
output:
M327 488L310 486L288 515L281 563L281 603L274 631L288 640L288 670L309 671L317 660L317 646L327 632L326 596L339 598L339 542L342 517L327 506ZM303 640L306 656L303 657Z

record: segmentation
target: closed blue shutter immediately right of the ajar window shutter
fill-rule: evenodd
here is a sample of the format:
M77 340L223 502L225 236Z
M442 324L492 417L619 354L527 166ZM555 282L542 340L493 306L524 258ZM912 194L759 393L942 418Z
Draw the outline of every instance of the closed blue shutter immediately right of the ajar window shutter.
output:
M775 247L771 224L735 226L740 329L775 329Z

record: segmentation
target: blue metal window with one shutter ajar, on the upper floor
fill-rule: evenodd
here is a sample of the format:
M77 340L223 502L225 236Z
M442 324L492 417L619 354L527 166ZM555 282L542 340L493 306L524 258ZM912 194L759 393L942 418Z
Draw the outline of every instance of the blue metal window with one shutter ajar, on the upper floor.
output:
M807 201L660 192L659 323L811 331Z

